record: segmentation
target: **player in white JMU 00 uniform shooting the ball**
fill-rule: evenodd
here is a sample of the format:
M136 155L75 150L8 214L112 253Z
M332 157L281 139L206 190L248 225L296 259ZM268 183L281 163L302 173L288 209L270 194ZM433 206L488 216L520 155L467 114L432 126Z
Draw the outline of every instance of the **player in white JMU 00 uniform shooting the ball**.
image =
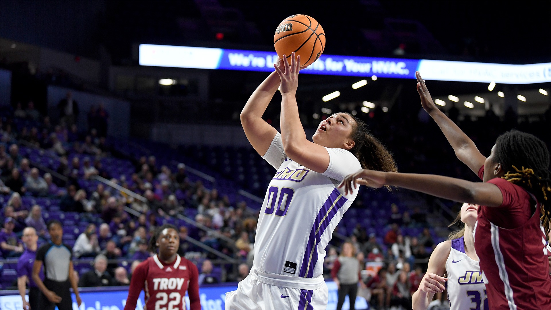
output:
M258 218L251 273L226 293L226 309L325 309L325 248L358 194L336 185L359 167L396 171L391 154L352 115L329 116L314 142L307 140L295 99L300 58L293 53L290 65L283 58L241 111L249 142L277 173ZM281 133L262 119L278 87Z

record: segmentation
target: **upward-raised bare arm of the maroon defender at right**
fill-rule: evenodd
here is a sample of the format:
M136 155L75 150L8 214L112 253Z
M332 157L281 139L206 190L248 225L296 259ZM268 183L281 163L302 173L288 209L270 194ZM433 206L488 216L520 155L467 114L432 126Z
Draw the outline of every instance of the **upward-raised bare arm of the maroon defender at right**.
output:
M429 113L430 117L438 124L440 130L446 136L448 142L457 158L466 164L474 173L478 174L478 170L484 164L486 158L478 151L474 142L442 111L436 108L433 98L430 97L429 90L426 88L425 81L421 77L419 71L415 72L417 77L417 91L421 97L421 105L423 109Z

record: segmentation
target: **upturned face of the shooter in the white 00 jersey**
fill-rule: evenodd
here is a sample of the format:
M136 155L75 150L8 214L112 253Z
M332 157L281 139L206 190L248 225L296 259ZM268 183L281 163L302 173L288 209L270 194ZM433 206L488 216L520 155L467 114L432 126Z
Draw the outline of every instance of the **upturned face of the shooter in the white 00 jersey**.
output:
M314 136L312 136L312 141L329 148L345 148L347 142L354 143L350 140L353 125L355 125L355 121L350 115L344 113L333 114L320 122ZM350 148L353 146L354 144Z

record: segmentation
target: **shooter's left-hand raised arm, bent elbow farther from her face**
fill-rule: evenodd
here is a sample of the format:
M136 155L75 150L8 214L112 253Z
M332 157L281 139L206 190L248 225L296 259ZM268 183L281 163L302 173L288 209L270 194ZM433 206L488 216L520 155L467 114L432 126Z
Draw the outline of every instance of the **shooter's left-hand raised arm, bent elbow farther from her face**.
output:
M262 119L262 114L276 93L279 83L278 74L275 71L272 72L252 93L240 115L241 125L247 139L261 156L266 154L277 134L277 130Z

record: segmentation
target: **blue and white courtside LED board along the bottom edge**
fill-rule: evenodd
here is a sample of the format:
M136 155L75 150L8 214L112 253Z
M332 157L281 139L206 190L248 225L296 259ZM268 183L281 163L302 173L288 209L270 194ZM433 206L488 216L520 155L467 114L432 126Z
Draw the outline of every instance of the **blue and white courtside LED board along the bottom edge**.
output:
M330 281L326 282L329 289L329 300L327 303L327 310L334 310L337 308L337 285ZM203 310L223 310L224 301L226 298L226 292L237 290L237 285L230 286L202 286L199 287L199 298L201 299L201 308ZM75 296L73 294L73 310L123 310L126 304L126 297L128 296L128 287L107 287L107 288L82 288L80 292L80 298L82 298L82 304L77 306ZM274 298L279 298L275 296ZM28 297L27 297L28 299ZM186 295L185 299L186 309L190 309L190 298ZM144 309L144 294L140 294L138 302L136 303L136 310ZM343 310L348 310L350 304L348 302L348 296L343 304ZM368 303L363 297L356 297L356 309L367 309ZM0 309L2 310L21 310L23 304L21 303L21 297L18 291L3 291L0 293Z

